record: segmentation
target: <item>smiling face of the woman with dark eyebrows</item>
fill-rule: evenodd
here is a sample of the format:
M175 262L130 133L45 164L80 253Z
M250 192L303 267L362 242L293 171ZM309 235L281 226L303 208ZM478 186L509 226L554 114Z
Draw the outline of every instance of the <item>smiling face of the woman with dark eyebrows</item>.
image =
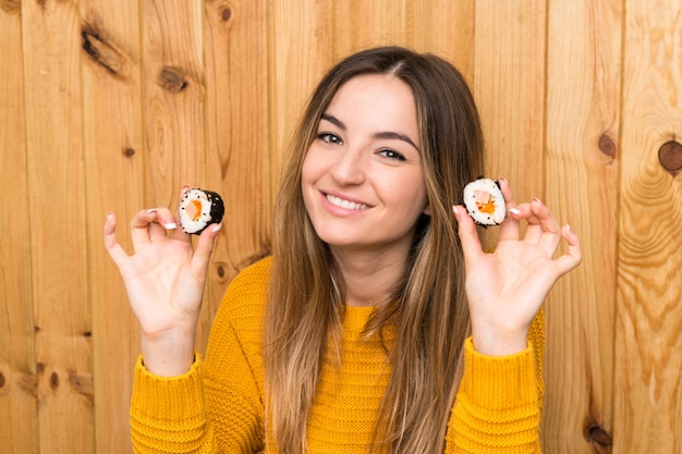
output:
M406 251L427 212L411 88L376 74L341 86L303 162L302 188L315 231L330 246Z

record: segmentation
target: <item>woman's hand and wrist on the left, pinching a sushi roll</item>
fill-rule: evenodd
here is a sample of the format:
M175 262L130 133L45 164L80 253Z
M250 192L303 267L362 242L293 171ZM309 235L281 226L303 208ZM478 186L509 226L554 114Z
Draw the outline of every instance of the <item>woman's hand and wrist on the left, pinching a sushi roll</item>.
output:
M209 225L193 248L192 235L176 225L176 217L167 208L137 212L131 222L132 256L117 242L112 212L103 228L105 247L139 322L145 367L167 377L186 372L194 361L208 261L221 226Z

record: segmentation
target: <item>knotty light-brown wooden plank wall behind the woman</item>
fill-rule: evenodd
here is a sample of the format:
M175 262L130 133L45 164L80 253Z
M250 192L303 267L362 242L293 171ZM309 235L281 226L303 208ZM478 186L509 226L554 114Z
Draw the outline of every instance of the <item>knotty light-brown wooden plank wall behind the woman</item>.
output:
M366 46L470 81L489 173L582 236L547 302L545 452L682 452L682 2L0 0L0 451L126 453L138 333L101 246L184 183L224 229L198 334L269 250L284 144Z

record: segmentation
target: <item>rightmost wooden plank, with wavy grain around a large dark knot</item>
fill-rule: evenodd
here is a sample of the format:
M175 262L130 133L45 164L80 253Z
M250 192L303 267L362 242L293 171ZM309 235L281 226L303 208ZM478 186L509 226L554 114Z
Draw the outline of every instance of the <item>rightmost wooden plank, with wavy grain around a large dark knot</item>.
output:
M629 0L626 11L613 452L672 453L682 450L682 182L658 149L682 136L682 5Z

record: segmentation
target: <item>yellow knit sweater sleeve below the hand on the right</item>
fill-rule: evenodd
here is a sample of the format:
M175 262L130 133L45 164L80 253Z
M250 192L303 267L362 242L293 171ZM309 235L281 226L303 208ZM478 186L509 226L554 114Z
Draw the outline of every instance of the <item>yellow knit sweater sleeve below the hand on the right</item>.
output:
M464 373L448 424L449 454L541 453L541 360L545 348L540 311L528 333L528 347L492 357L464 345Z

